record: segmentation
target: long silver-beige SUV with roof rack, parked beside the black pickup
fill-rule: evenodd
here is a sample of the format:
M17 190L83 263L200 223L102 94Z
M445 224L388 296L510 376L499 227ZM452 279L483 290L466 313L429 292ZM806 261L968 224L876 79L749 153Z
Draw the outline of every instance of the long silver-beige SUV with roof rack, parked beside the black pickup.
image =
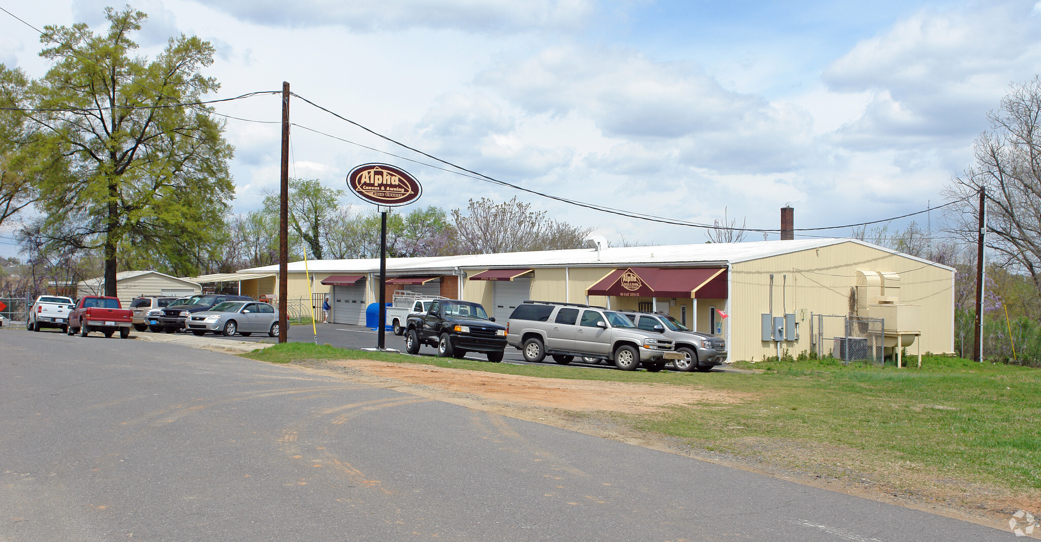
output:
M668 360L682 358L660 333L636 328L620 312L578 303L526 301L510 314L506 338L532 363L551 355L567 364L580 356L613 361L623 370L642 364L659 371Z

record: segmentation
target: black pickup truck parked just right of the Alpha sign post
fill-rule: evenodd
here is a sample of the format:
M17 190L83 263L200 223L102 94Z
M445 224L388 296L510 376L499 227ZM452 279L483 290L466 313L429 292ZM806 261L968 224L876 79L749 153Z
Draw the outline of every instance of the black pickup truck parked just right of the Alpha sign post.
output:
M488 361L500 362L506 350L506 328L489 318L479 303L435 300L427 312L408 317L405 351L418 354L423 344L437 349L442 358L483 352Z

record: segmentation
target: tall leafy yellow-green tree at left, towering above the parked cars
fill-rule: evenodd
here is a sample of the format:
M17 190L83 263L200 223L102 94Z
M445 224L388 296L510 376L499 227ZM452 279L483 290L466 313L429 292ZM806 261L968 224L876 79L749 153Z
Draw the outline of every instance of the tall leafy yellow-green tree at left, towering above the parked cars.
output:
M42 235L56 247L100 250L105 293L116 293L120 258L192 275L212 256L233 185L224 123L200 101L220 85L201 70L213 46L171 37L153 60L132 55L148 17L105 9L107 33L87 25L45 27L52 62L29 85L27 127L37 151L57 154L68 179L41 182Z

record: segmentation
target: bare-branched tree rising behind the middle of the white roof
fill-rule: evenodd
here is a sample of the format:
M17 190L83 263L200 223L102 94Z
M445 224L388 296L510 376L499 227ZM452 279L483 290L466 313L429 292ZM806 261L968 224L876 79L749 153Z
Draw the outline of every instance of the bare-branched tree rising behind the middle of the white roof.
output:
M501 204L487 198L469 200L467 214L452 210L456 249L461 254L581 249L592 228L581 228L532 211L515 197Z

